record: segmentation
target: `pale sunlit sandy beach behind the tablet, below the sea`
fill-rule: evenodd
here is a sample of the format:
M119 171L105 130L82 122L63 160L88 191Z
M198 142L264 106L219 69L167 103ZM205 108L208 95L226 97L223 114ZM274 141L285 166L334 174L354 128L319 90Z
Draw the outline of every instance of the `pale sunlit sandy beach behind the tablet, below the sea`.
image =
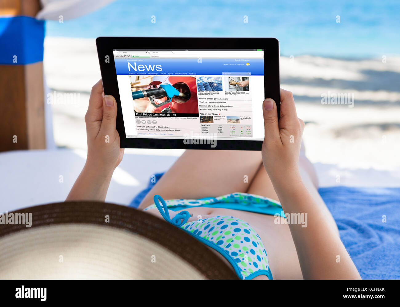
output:
M399 56L290 56L281 57L280 67L281 87L293 92L298 116L306 122L304 143L313 163L394 171L400 177ZM100 79L94 39L46 37L44 69L50 92L79 94L73 104L52 104L57 146L85 149L84 115ZM342 93L354 95L351 108L321 103L323 95ZM127 152L177 156L183 150Z

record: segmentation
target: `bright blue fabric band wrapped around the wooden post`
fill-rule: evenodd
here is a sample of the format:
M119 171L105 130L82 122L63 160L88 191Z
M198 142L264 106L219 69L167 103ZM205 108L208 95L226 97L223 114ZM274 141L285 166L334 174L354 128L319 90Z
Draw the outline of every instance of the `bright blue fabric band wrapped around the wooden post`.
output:
M42 62L43 43L44 20L28 16L0 18L0 64Z

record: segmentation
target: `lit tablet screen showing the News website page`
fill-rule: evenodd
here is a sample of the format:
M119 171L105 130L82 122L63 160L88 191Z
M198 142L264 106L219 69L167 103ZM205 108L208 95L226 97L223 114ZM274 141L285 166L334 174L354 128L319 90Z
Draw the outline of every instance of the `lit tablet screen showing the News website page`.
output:
M264 51L116 50L127 138L264 140Z

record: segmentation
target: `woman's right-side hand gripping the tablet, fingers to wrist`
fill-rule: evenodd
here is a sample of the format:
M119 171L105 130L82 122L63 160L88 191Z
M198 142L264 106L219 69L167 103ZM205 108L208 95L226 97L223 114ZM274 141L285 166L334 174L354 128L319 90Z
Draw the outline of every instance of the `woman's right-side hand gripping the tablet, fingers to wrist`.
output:
M297 117L291 92L280 90L280 120L274 100L263 102L262 161L272 183L301 181L298 168L304 122ZM290 181L289 181L290 180Z

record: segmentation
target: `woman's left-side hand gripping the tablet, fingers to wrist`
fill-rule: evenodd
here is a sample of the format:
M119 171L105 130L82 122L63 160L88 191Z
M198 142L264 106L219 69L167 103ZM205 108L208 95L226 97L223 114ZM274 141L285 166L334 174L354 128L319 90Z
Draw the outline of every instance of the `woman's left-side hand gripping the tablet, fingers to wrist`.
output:
M124 148L120 148L120 136L115 128L116 118L115 98L111 95L104 96L100 80L92 87L85 116L88 139L86 168L109 175L121 162Z

